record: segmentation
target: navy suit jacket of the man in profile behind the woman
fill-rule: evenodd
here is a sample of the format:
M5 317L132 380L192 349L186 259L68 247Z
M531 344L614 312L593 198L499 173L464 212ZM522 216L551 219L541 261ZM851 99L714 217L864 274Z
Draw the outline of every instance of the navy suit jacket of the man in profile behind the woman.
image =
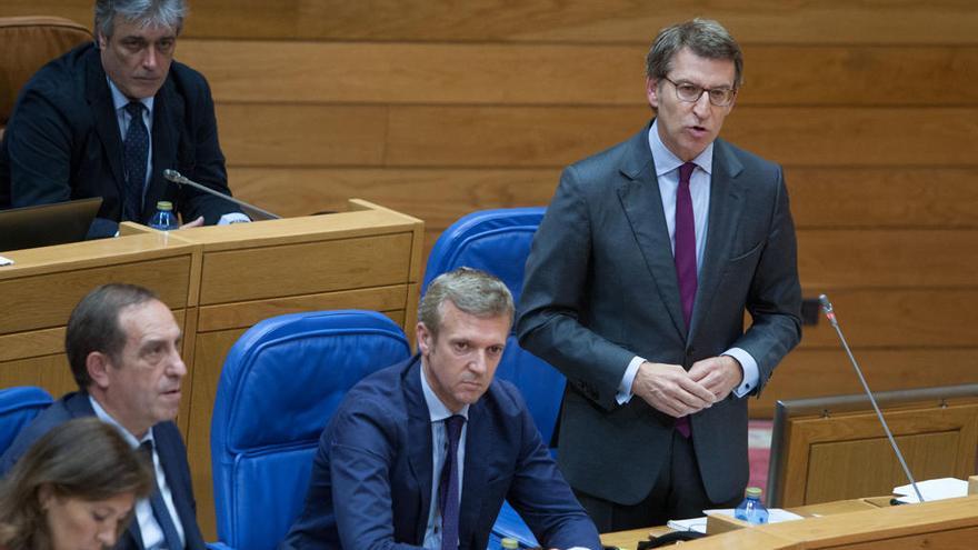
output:
M68 393L53 402L51 407L38 414L13 440L3 457L0 458L0 476L6 476L13 468L17 460L22 457L34 441L40 439L51 428L64 423L74 418L92 417L96 411L83 392ZM180 431L173 422L160 422L153 426L153 441L160 464L167 474L167 484L173 497L173 506L183 526L183 536L187 548L203 550L206 544L197 526L197 503L193 500L193 489L190 484L190 467L187 464L187 448ZM133 519L129 529L116 543L117 550L142 550L142 536L139 532L139 523Z

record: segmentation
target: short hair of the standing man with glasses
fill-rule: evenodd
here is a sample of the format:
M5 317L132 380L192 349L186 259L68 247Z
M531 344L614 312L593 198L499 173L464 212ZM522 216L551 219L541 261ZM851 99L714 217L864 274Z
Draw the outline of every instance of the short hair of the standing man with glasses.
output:
M666 78L672 70L672 58L682 48L689 48L701 58L734 61L734 88L744 83L744 53L722 24L711 19L692 19L666 27L652 42L646 56L646 77Z

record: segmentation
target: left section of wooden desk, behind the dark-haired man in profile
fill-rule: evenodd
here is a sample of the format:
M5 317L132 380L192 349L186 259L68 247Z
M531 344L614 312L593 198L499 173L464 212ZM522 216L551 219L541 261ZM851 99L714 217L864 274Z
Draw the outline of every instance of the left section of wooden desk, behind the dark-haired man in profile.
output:
M3 256L16 263L0 268L0 387L40 386L56 397L78 389L64 358L64 326L99 284L153 289L187 330L190 270L200 262L193 246L148 232ZM189 402L181 404L183 416Z

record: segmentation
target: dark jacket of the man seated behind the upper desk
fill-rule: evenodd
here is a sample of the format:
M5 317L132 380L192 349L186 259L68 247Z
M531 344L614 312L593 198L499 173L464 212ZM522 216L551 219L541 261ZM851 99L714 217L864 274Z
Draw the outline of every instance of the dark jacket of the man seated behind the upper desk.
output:
M184 221L217 223L239 209L229 201L178 188L176 169L224 194L228 176L218 144L213 100L203 76L173 62L153 99L152 167L143 202L173 203ZM122 218L122 137L99 49L87 43L44 66L21 90L0 144L0 208L102 197L98 217ZM142 221L146 221L143 219Z

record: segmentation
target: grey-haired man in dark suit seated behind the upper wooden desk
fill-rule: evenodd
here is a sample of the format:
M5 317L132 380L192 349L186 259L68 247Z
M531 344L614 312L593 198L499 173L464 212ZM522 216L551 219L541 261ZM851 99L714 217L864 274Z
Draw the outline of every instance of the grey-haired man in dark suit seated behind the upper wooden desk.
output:
M166 200L189 226L248 221L233 203L163 178L176 169L230 194L210 88L173 61L186 11L184 0L96 2L96 42L21 90L0 144L0 208L101 197L111 228L144 223Z

